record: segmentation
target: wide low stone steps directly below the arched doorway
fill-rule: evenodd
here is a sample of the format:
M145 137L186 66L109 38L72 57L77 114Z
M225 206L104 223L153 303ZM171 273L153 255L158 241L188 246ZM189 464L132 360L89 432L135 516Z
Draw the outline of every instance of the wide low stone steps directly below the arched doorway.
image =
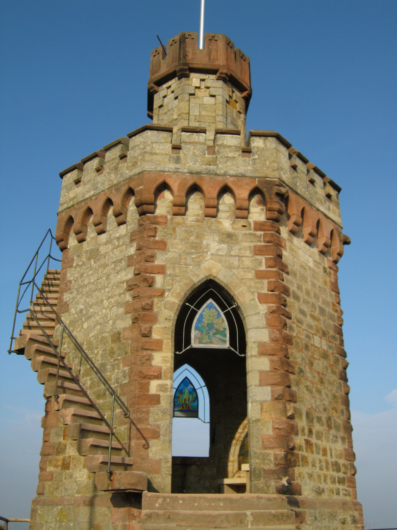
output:
M141 530L295 530L295 512L283 496L143 493Z

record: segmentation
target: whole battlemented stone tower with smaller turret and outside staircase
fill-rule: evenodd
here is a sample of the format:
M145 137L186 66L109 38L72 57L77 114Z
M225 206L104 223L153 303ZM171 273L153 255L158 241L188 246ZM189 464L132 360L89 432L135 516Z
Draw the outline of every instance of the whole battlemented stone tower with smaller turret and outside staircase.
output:
M247 138L250 98L230 39L180 33L151 54L153 123L60 173L47 337L33 316L15 343L46 398L32 529L363 528L340 188L278 133ZM172 456L185 365L208 457Z

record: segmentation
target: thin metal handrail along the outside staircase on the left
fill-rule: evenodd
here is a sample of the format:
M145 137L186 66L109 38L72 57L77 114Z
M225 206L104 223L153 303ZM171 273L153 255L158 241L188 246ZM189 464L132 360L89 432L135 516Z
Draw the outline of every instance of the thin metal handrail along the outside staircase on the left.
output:
M42 263L40 264L40 267L39 269L37 268L37 262L38 262L38 256L39 256L39 252L40 252L40 249L41 249L41 246L43 245L44 241L46 240L48 234L50 234L50 249L49 249L49 252L48 254L46 255L46 258L44 258L44 260L42 261ZM33 258L32 258L32 261L30 262L29 264L29 267L26 269L21 281L20 281L20 284L19 284L19 288L18 288L18 295L17 295L17 300L16 300L16 306L15 306L15 314L14 314L14 321L13 321L13 330L12 330L12 334L11 334L11 343L10 343L10 349L8 350L8 354L11 354L12 352L16 352L13 348L12 348L12 341L14 339L16 339L16 337L14 337L14 332L15 332L15 322L16 322L16 315L17 314L21 314L21 313L30 313L32 319L35 321L35 323L38 325L40 331L43 333L44 337L46 338L49 346L52 348L53 352L55 353L55 355L58 357L58 363L57 363L57 372L56 372L56 379L55 379L55 394L54 397L56 400L58 400L59 398L59 394L58 394L58 378L59 378L59 368L60 368L60 364L62 363L62 366L67 370L67 372L70 374L70 376L73 378L73 380L75 381L75 383L80 387L80 389L82 390L82 392L84 393L84 395L86 396L86 398L91 402L91 404L93 405L94 409L96 410L96 412L101 416L102 420L105 422L105 425L109 428L109 458L108 458L108 461L107 461L107 476L109 478L109 480L111 479L112 477L112 471L111 471L111 455L112 455L112 438L113 436L116 438L116 440L118 440L120 443L121 441L119 440L119 438L116 436L114 430L113 430L113 417L114 417L114 403L117 402L120 406L120 408L123 410L123 414L124 414L124 418L128 418L130 416L130 411L127 407L127 405L122 401L122 399L120 398L119 394L114 390L114 388L111 386L111 384L109 383L109 381L107 381L107 379L105 378L105 376L102 374L101 370L95 365L94 361L91 359L91 357L89 357L89 355L87 354L87 352L84 350L84 348L80 345L80 343L77 341L77 339L75 338L75 336L73 335L73 333L69 330L69 328L67 327L67 325L65 324L65 322L61 319L61 317L58 315L58 313L56 312L55 308L52 306L52 304L49 302L48 298L46 297L46 295L44 295L44 293L42 292L41 288L36 284L35 282L35 278L36 276L38 275L39 271L41 270L43 264L47 261L47 272L48 272L48 266L49 266L49 261L50 261L50 258L53 259L53 260L56 260L56 261L61 261L61 260L57 260L56 258L53 258L51 256L51 245L52 245L52 240L54 240L54 237L51 233L51 230L49 229L46 233L46 235L44 236L42 242L40 243L39 245L39 248L38 250L35 252ZM34 261L34 271L33 271L33 278L31 280L25 280L25 277L26 277L26 274L28 273L32 263ZM21 295L21 286L26 286L23 290L23 293ZM29 290L29 287L31 286L31 295L30 295L30 302L29 302L29 307L28 308L24 308L24 309L20 309L20 305L22 304L22 300L24 298L24 295L25 293ZM33 293L34 293L34 289L37 289L38 293L40 293L41 297L42 297L42 300L44 302L44 304L47 305L47 307L51 310L51 312L53 313L53 315L55 316L55 320L58 322L58 324L61 326L61 333L60 333L60 340L59 340L59 345L58 345L58 348L54 345L54 343L52 342L51 338L49 337L48 333L46 332L46 330L44 330L44 328L42 327L39 319L37 318L37 315L35 314L35 311L33 310L33 308L31 307L31 304L33 303ZM73 345L75 346L75 348L77 349L77 351L79 352L80 354L80 366L81 366L81 360L82 358L84 358L84 360L86 361L86 363L88 364L88 366L93 370L94 374L96 375L96 377L99 379L99 381L102 383L102 385L105 387L106 391L109 392L112 396L112 410L111 410L111 418L110 418L110 423L106 420L104 414L98 409L98 407L96 406L96 404L94 403L94 401L89 397L88 393L85 391L84 387L80 384L79 382L79 379L75 376L75 374L71 371L71 369L67 366L66 362L61 358L61 352L62 352L62 341L63 341L63 338L64 338L64 334L67 335L67 337L70 339L71 343L73 343ZM123 444L121 444L123 446ZM128 451L127 449L125 449L125 447L123 446L124 448L124 451L128 454Z

